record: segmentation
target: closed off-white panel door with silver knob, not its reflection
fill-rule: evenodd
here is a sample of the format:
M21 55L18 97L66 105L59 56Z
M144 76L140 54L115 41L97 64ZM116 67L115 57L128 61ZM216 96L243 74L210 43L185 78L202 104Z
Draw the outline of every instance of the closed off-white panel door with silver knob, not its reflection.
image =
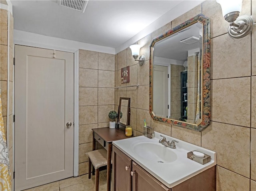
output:
M15 191L73 176L73 123L74 54L15 45Z

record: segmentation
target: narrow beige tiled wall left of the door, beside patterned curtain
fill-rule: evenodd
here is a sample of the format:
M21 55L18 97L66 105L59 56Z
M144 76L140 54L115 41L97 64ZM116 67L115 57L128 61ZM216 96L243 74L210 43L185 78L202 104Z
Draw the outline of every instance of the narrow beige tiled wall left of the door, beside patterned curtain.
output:
M7 4L6 1L1 3ZM9 17L9 18L8 18ZM9 31L8 31L9 25ZM9 37L9 39L8 39ZM9 48L9 49L8 49ZM9 70L8 70L9 59ZM8 79L9 77L9 79ZM0 87L4 130L9 148L10 172L13 185L13 16L7 10L0 9ZM8 109L7 109L8 108ZM8 125L7 125L8 119Z

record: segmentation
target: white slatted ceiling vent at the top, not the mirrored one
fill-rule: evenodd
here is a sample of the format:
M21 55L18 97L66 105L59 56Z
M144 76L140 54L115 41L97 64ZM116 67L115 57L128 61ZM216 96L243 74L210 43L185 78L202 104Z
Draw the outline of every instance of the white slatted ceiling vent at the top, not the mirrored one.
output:
M86 6L88 4L88 1L85 1L85 0L58 0L58 4L60 6L64 6L66 8L70 8L70 9L84 13Z

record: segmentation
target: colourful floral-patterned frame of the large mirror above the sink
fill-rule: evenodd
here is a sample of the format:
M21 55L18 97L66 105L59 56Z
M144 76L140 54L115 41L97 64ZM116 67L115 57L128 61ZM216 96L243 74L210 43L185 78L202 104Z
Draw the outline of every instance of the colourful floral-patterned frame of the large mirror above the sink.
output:
M200 22L203 24L203 85L202 85L202 122L200 124L191 124L184 121L173 120L170 118L163 118L160 116L154 116L152 112L152 58L153 58L153 46L156 42L188 27L192 24ZM149 113L151 117L159 122L164 122L168 124L173 124L175 126L180 126L183 128L195 130L201 132L210 124L210 18L204 16L203 14L198 14L194 18L187 20L186 22L168 30L164 34L153 39L150 44L150 59L149 59Z

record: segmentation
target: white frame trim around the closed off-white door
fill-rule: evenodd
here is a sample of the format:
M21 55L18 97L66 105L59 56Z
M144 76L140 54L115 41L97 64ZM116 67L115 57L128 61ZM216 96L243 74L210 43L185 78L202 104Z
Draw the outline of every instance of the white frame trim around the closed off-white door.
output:
M15 45L24 45L36 48L44 48L44 49L52 49L57 51L65 51L74 53L74 164L73 164L73 176L78 176L78 164L79 164L79 50L78 49L68 49L66 47L54 47L47 46L38 43L24 42L24 41L16 41L14 40ZM14 49L15 50L15 49ZM15 52L14 52L15 55ZM15 68L14 68L15 70ZM15 87L14 87L15 89ZM15 91L14 91L15 95ZM14 98L13 98L14 99ZM15 128L14 128L15 134ZM14 156L15 160L15 156ZM15 166L14 166L15 169ZM15 181L15 180L14 180Z

